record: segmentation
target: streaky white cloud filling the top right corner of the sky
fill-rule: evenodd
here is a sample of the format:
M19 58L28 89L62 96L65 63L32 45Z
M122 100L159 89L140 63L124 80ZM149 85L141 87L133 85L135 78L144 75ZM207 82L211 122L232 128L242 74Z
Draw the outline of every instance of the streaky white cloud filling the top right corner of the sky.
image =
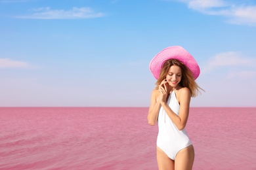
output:
M203 14L224 16L230 24L256 25L256 5L238 5L223 0L177 0Z

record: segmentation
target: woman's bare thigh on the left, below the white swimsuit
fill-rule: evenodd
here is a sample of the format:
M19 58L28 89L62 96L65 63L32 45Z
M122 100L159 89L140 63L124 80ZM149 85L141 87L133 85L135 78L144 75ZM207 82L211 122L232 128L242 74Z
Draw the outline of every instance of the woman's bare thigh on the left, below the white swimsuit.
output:
M159 170L174 170L174 161L171 160L163 150L156 148L156 158Z

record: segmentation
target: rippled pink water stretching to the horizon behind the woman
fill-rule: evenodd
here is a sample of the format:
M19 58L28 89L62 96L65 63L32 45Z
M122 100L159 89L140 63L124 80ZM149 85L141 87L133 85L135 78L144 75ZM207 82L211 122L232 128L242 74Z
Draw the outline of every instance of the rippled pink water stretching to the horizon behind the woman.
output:
M0 169L158 169L147 108L0 108ZM256 169L256 108L191 108L193 169Z

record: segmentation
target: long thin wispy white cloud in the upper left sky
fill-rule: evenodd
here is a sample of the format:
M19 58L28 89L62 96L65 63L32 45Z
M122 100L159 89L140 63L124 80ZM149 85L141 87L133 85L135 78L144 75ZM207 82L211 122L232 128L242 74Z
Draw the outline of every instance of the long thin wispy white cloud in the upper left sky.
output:
M33 9L33 14L25 16L16 16L16 18L24 19L86 19L98 18L104 16L102 12L94 12L88 7L73 7L71 10L53 10L50 7L42 7Z

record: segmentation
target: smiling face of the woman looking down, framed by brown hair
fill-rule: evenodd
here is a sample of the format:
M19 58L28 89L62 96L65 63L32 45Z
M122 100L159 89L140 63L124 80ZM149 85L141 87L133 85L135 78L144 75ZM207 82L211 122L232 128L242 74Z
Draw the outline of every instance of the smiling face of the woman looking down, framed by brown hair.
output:
M182 76L181 67L177 65L173 65L170 67L166 75L166 80L170 86L172 86L173 88L176 88L179 82L181 82L181 76Z

